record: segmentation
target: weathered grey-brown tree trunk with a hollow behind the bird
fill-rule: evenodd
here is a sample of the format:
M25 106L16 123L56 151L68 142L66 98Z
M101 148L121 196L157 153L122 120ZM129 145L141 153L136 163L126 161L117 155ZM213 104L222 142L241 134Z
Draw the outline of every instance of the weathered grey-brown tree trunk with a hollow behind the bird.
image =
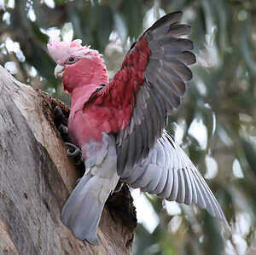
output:
M80 176L54 124L55 98L0 67L0 254L131 254L136 212L129 189L108 199L100 246L75 239L61 206Z

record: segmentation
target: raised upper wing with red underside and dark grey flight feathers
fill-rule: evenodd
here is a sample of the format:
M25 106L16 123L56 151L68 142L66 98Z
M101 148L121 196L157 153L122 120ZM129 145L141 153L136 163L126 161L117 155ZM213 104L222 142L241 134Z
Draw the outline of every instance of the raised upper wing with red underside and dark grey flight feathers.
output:
M119 109L117 153L119 175L148 156L177 109L192 78L193 43L180 38L190 26L180 25L181 12L166 14L137 40L122 67L96 102Z

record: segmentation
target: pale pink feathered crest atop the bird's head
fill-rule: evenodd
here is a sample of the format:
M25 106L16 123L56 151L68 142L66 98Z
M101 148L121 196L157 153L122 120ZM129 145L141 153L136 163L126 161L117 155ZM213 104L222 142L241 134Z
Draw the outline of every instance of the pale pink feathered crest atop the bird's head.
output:
M60 38L49 38L47 48L49 54L58 64L63 64L70 55L98 55L97 50L90 49L90 46L82 46L82 40L74 40L71 43L63 42Z

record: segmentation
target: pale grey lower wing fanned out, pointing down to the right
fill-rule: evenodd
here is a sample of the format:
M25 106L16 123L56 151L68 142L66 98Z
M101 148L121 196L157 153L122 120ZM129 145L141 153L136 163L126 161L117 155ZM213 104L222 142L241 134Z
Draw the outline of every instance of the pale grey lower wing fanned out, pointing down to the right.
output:
M132 188L141 188L163 199L206 208L213 217L226 222L218 201L201 174L165 131L141 164L124 171L121 179Z

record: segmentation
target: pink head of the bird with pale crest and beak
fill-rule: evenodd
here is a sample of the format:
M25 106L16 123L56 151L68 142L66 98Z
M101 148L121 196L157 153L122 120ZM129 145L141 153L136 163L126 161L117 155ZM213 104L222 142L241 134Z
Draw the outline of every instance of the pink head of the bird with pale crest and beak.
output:
M64 90L70 94L86 84L108 83L108 71L101 55L81 43L81 40L67 43L50 38L47 44L49 54L57 63L55 77L62 78Z

